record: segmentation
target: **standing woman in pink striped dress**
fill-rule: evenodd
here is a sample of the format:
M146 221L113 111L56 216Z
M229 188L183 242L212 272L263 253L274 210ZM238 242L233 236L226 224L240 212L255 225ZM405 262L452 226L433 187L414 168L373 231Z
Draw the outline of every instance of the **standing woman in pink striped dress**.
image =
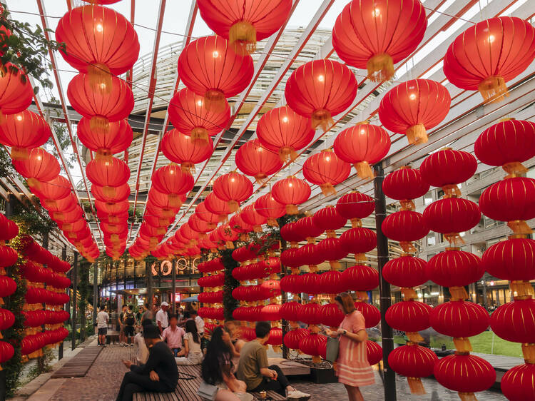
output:
M344 383L350 401L363 401L360 386L372 385L374 373L366 353L366 326L362 313L355 309L353 298L340 293L335 298L345 318L337 331L327 330L327 335L340 339L340 350L336 360L338 381Z

